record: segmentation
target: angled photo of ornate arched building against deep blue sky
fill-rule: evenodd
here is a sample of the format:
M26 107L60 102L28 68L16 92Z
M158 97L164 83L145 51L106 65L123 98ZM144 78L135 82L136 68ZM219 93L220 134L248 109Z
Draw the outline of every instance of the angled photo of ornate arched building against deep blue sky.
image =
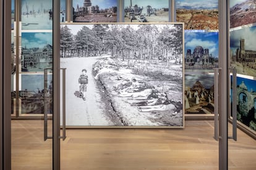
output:
M233 83L231 75L231 83ZM237 76L237 121L256 131L256 80ZM231 89L231 104L233 103ZM232 109L232 107L231 107ZM231 116L233 116L231 110Z

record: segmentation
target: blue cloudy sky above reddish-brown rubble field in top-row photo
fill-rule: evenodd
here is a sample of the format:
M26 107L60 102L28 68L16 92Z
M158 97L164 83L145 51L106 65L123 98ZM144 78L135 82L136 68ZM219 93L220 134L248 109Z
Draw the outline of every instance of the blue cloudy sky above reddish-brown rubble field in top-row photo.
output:
M218 0L176 0L176 9L218 9Z

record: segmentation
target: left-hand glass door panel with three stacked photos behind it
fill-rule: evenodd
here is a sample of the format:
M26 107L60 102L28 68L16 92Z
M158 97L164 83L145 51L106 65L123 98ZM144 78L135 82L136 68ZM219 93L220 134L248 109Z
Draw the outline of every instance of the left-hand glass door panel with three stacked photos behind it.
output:
M53 1L12 0L12 169L53 169Z

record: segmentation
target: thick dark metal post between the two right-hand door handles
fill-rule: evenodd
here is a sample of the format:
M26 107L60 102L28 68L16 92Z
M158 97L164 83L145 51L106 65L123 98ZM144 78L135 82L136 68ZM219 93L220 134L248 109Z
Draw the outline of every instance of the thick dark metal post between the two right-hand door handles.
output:
M228 17L227 1L218 1L219 9L219 169L228 169Z

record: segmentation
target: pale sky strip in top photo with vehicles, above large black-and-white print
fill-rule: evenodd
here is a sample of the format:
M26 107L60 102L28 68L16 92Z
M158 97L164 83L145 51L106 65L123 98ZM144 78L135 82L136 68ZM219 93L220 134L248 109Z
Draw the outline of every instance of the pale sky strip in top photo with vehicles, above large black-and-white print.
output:
M132 6L137 6L139 7L147 7L151 6L152 8L155 9L161 9L163 7L169 8L169 0L132 0ZM130 0L124 0L124 7L129 7L130 6Z

